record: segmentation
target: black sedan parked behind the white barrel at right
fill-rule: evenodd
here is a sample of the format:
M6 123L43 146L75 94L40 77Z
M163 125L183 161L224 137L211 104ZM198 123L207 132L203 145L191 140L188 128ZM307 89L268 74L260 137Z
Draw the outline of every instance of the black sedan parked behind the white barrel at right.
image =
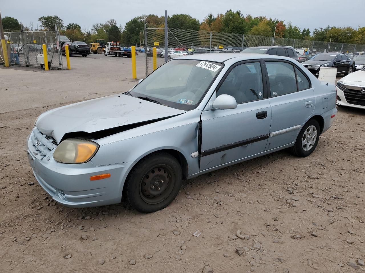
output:
M347 75L355 71L355 61L338 52L321 53L301 64L317 78L321 67L335 67L337 68L337 75Z

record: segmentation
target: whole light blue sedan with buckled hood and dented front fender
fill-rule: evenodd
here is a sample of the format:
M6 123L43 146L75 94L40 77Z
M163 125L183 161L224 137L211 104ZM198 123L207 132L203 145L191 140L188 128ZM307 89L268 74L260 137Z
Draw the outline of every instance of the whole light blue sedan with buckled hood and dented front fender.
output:
M35 178L66 206L171 203L183 179L290 148L310 155L336 90L295 60L199 54L170 60L128 92L41 114L27 139Z

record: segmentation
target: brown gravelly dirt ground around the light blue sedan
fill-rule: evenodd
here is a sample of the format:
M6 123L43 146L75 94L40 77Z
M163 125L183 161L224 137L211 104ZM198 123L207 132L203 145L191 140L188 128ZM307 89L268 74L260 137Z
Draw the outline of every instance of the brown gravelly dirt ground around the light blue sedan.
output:
M3 71L1 272L364 271L365 111L339 108L310 157L280 151L191 179L162 211L140 214L124 201L72 209L38 185L25 147L35 118L70 101L49 95L18 109Z

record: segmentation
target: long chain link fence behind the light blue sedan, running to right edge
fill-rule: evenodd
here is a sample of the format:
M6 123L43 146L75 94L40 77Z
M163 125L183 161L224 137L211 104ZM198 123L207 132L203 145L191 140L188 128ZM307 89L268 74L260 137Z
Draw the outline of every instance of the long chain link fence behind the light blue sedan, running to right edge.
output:
M165 29L145 28L146 76L153 71L152 48L157 47L157 67L165 63ZM158 46L155 44L158 44ZM201 30L168 28L168 48L174 51L186 50L197 53L218 53L222 50L240 52L246 47L292 46L296 49L308 48L313 54L338 51L359 55L365 53L365 45L329 43L311 40L295 40L279 37L240 35L234 33L209 32Z

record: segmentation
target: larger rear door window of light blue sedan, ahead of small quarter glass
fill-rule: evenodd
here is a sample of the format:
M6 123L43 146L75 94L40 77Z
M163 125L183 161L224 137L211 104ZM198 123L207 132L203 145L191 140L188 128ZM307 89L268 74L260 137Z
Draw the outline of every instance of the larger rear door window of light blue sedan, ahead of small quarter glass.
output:
M297 91L295 72L292 64L266 62L269 75L270 96L281 96Z

